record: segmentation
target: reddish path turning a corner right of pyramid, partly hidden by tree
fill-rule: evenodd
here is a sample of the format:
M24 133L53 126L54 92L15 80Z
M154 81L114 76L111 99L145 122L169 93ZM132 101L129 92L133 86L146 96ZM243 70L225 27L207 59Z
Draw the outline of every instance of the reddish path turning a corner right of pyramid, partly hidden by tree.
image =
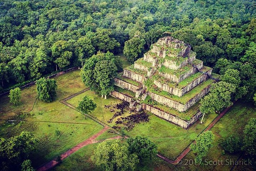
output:
M233 103L235 104L236 101L233 102ZM219 121L220 118L222 118L222 116L224 116L224 115L229 111L229 109L230 109L231 107L232 107L232 105L231 105L230 107L225 108L213 121L211 121L211 123L204 129L203 132L209 131L211 128L213 128L213 126L217 123L217 121ZM200 135L200 134L199 134L199 135ZM194 140L193 142L191 142L191 144L192 144L192 143L195 143L195 140ZM177 164L179 164L179 162L189 153L189 151L190 151L190 145L189 145L188 147L186 147L186 149L183 150L183 151L180 153L180 155L179 155L174 161L168 159L167 157L165 157L165 156L163 156L163 155L161 155L161 154L157 154L157 156L160 157L161 159L167 161L168 163L171 163L171 164L173 164L173 165L177 165Z

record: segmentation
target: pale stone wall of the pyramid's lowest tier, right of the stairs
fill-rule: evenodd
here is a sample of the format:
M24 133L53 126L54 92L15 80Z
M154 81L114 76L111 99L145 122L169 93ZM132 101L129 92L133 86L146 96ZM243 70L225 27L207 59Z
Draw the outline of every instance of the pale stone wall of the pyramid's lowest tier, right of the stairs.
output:
M202 113L199 111L189 121L187 121L187 120L180 119L177 116L174 116L170 113L167 113L159 108L153 107L152 105L143 103L142 108L144 110L148 110L149 112L153 113L154 115L156 115L160 118L163 118L171 123L174 123L175 125L178 125L178 126L184 128L184 129L188 129L189 126L194 124L195 121L198 120L202 115Z

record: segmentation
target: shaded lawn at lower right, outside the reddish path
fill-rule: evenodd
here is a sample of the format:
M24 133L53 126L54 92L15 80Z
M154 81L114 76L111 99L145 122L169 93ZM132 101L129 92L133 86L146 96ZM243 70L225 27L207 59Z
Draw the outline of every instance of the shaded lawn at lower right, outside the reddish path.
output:
M226 113L211 129L215 134L215 140L213 143L213 148L208 152L208 155L204 157L203 161L217 161L217 160L231 160L236 161L239 157L239 154L222 154L222 148L218 145L221 139L224 139L228 136L235 135L242 138L243 130L245 125L248 123L250 118L256 117L256 110L254 105L246 104L242 102L237 102L231 110ZM194 160L195 155L193 152L189 152L188 155L183 159L183 164L188 160ZM205 162L206 164L206 162ZM226 163L225 163L226 164ZM188 165L190 170L230 170L232 165ZM244 166L237 166L235 170L239 170ZM239 169L238 169L239 168ZM247 167L246 167L247 168ZM244 167L245 169L245 167Z

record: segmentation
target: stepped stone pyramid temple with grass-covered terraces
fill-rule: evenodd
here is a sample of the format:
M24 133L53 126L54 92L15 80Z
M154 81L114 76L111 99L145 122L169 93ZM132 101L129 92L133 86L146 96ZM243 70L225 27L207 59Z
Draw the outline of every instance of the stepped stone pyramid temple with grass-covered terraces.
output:
M202 115L199 100L215 82L212 68L203 66L190 49L173 37L160 38L144 58L118 74L111 95L188 129Z

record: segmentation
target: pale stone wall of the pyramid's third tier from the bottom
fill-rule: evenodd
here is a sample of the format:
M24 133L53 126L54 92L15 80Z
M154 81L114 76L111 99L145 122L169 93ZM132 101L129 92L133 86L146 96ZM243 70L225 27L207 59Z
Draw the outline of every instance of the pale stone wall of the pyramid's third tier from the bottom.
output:
M211 71L213 69L210 69L207 73L209 75L211 75ZM184 88L176 88L176 87L170 87L168 84L165 83L161 83L157 80L154 80L154 84L161 88L162 90L169 92L171 94L177 95L179 97L181 97L182 95L184 95L185 93L187 93L189 90L193 89L194 87L198 86L201 82L206 81L208 79L208 75L207 74L202 74L201 77L199 77L198 79L194 80L193 82L191 82L190 84L188 84L186 87Z

